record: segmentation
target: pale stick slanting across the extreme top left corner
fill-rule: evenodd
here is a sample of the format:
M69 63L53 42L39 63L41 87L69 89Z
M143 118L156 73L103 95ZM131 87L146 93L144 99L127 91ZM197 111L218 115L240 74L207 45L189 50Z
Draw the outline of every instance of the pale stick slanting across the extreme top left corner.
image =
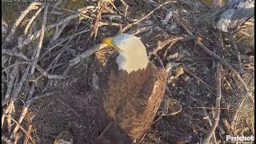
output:
M26 10L22 11L22 14L19 16L19 18L16 20L16 22L12 26L12 28L10 30L10 33L6 36L6 39L2 43L2 45L4 45L6 42L10 41L10 38L12 38L12 36L14 35L18 25L20 24L20 22L22 22L22 19L25 18L26 14L28 14L31 10L37 9L37 5L42 5L42 3L40 3L40 2L32 2L30 4L30 6L28 6L26 8Z

